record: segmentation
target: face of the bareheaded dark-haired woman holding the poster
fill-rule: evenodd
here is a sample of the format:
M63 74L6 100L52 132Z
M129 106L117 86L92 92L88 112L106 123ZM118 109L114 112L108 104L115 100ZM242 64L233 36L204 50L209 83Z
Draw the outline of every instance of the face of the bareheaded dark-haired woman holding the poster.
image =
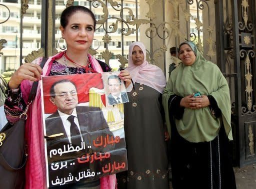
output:
M69 50L88 50L93 36L93 19L85 12L77 11L68 18L65 28L60 26L61 35Z

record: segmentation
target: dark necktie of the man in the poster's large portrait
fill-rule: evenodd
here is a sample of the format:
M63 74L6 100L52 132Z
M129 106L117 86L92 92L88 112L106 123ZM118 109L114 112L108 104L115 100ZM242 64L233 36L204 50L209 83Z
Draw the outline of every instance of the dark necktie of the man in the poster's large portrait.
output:
M70 138L73 146L80 146L81 137L77 125L74 123L74 116L69 116L67 120L71 123L70 125Z

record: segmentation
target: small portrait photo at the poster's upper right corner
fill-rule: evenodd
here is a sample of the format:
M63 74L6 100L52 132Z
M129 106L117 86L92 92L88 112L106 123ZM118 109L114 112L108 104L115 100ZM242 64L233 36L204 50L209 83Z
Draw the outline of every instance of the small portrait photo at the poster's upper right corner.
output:
M124 83L118 74L119 72L112 72L105 75L107 78L103 78L108 105L129 102Z

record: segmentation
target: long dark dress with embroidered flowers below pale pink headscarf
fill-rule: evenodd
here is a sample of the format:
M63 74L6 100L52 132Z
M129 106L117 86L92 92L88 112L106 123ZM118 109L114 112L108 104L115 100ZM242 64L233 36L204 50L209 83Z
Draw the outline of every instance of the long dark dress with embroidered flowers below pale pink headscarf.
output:
M117 174L118 189L169 189L161 94L134 86L124 103L128 171Z

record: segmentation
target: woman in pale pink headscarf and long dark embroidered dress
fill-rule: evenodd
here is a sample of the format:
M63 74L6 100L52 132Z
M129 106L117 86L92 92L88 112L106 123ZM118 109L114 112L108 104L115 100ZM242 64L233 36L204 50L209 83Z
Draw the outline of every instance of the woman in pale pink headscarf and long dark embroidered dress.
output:
M124 104L127 173L118 174L118 189L168 189L161 94L166 84L160 68L148 64L141 42L129 46L128 67L134 86ZM166 135L165 135L166 133Z

